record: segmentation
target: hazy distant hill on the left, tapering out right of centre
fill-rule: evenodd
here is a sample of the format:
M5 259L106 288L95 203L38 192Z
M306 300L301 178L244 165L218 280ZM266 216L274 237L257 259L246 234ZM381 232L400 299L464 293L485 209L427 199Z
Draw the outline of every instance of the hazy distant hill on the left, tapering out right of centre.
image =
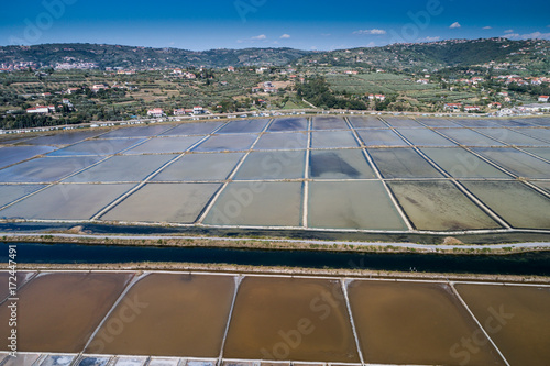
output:
M310 54L292 48L211 49L150 48L105 44L44 44L0 47L0 64L34 62L42 66L57 63L94 63L100 68L227 67L286 65Z

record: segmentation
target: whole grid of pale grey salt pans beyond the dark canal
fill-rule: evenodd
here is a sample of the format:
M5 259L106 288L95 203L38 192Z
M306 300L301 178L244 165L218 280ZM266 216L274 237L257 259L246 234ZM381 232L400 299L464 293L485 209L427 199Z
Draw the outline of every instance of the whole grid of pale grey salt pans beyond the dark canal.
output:
M0 218L548 234L549 125L543 118L318 115L8 141L0 151L18 154L0 169Z

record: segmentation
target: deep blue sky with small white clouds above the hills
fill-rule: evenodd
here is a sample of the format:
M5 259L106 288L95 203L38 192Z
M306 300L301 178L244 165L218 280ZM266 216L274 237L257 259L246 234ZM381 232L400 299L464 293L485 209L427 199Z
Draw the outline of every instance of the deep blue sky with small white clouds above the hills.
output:
M550 40L549 1L10 1L0 44L337 49L508 36Z

